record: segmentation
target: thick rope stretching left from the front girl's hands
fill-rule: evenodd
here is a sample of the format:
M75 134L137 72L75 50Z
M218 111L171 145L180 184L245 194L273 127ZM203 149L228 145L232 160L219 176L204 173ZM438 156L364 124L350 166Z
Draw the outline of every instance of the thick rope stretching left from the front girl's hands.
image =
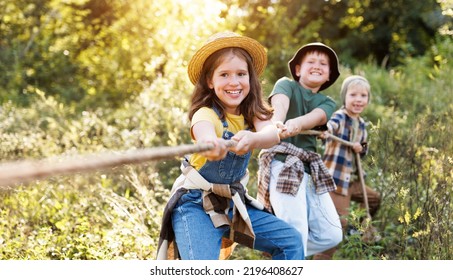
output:
M226 143L227 147L232 147L235 144L236 142L233 140L229 140ZM0 165L0 186L27 183L59 174L93 172L94 170L107 169L124 164L163 160L208 151L213 148L213 144L193 144L88 156L7 162Z

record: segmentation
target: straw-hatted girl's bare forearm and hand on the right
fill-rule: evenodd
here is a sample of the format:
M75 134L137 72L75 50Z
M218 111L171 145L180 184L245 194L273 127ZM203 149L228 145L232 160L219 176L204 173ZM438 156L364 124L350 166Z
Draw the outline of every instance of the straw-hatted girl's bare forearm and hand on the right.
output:
M255 118L254 126L256 132L241 130L236 133L232 139L238 141L238 143L230 150L241 155L253 149L270 148L280 142L277 127L272 121L262 121Z

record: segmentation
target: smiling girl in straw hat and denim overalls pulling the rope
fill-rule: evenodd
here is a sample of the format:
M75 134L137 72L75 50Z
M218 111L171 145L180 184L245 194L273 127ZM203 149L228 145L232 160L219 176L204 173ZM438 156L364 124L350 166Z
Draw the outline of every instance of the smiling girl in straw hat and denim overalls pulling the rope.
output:
M158 259L225 258L236 242L273 259L304 259L299 232L264 211L245 188L252 150L280 141L258 79L266 63L261 44L231 32L213 35L190 60L191 136L213 148L181 165L163 217Z

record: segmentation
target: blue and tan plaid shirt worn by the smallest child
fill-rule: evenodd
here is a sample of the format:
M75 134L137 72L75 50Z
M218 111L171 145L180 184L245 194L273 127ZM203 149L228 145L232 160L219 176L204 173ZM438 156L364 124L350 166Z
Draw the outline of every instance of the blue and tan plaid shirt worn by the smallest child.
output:
M350 142L362 143L363 150L361 156L368 152L366 124L362 118L359 118L358 131L354 135L353 119L348 116L344 108L336 111L332 118L327 123L328 131L343 140ZM337 185L336 192L342 195L348 194L350 182L354 181L356 174L354 151L351 147L342 145L340 142L326 139L325 150L323 155L324 164L332 174L335 184Z

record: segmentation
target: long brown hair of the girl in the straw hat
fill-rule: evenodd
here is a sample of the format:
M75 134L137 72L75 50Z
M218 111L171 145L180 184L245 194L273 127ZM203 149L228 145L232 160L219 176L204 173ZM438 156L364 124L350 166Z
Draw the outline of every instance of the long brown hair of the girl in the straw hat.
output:
M273 109L263 98L261 84L252 64L252 58L247 51L241 48L225 48L214 52L203 64L200 79L195 85L192 93L191 106L189 109L189 120L202 107L217 107L220 117L225 118L225 108L213 89L208 86L212 79L214 70L223 62L227 55L235 55L247 62L250 76L250 92L239 105L239 112L244 116L245 122L250 129L253 129L253 119L269 120L272 117Z

